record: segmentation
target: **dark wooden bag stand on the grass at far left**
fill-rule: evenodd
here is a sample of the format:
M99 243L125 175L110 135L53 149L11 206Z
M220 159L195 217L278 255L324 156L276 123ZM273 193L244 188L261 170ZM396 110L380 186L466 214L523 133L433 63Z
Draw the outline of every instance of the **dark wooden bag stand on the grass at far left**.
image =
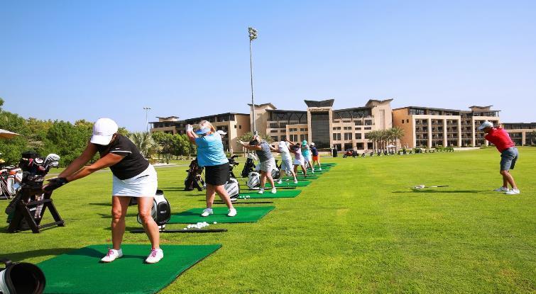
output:
M16 208L13 213L13 218L9 223L8 232L19 232L23 230L32 230L34 233L39 233L45 227L65 227L65 222L60 217L60 213L56 210L52 201L52 193L43 193L41 185L38 186L23 186L21 188L21 198L16 203ZM40 199L42 197L42 199ZM50 210L50 214L54 218L54 222L45 225L40 225L43 220L43 215L46 209Z

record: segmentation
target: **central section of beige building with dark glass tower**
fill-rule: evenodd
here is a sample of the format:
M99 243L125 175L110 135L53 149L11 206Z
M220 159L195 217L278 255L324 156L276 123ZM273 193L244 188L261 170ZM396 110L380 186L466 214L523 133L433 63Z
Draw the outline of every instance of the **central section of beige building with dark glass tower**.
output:
M305 101L305 111L285 111L271 103L260 104L255 106L257 130L273 141L307 140L319 148L365 152L373 148L367 139L368 132L393 127L391 101L369 100L363 107L339 110L333 109L333 99Z

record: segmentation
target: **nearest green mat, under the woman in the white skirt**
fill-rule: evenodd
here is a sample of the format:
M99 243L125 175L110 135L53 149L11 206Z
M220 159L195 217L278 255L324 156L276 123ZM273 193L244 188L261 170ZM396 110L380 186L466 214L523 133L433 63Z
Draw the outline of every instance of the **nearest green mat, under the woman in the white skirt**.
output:
M123 244L124 256L104 264L100 259L111 245L92 245L37 264L45 273L45 293L119 294L157 293L221 247L215 245L161 245L164 258L145 264L150 244Z

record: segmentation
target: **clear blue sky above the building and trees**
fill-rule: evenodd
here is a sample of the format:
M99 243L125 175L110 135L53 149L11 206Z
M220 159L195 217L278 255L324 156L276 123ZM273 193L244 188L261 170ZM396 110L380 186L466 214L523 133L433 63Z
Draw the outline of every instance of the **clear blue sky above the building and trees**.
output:
M536 121L536 1L1 1L0 97L23 117L247 113L394 98ZM528 107L527 107L528 106Z

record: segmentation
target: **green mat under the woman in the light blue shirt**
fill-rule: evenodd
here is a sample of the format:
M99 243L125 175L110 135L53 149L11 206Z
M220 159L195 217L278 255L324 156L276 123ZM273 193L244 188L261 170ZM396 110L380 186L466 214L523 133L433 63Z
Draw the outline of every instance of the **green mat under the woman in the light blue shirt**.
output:
M195 224L197 222L257 222L274 208L275 206L236 207L236 216L234 217L227 216L229 209L226 207L213 207L212 210L214 210L214 214L207 217L201 216L204 208L193 208L183 211L182 213L171 215L168 224Z

